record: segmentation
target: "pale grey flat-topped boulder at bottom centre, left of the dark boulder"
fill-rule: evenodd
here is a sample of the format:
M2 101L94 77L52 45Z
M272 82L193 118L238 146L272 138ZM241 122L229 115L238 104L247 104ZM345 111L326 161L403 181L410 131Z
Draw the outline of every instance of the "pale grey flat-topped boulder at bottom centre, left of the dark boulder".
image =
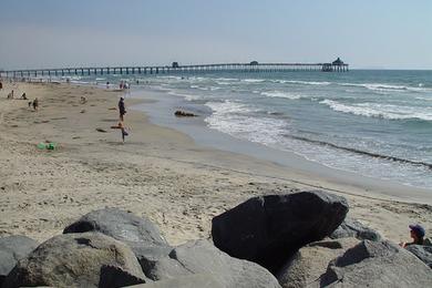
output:
M160 259L143 258L141 266L152 280L204 274L210 275L222 287L280 287L265 268L229 257L208 240L188 241Z

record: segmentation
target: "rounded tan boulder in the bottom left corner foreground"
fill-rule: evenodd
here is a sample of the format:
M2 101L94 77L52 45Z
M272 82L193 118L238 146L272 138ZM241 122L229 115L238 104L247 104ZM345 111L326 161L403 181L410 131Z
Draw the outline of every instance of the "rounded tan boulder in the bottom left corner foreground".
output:
M121 269L113 271L105 266ZM119 277L121 271L131 277ZM3 288L97 287L113 272L121 279L127 278L124 285L131 285L132 278L140 279L134 284L146 280L135 255L125 244L100 233L63 234L47 240L19 260L4 279ZM116 287L123 285L116 284Z

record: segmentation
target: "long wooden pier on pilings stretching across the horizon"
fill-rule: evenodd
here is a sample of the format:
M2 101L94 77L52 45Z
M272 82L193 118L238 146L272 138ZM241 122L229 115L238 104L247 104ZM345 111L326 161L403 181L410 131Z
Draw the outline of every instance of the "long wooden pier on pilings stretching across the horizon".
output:
M212 72L286 72L286 71L321 71L347 72L349 64L339 58L331 63L219 63L160 66L100 66L100 68L56 68L56 69L23 69L0 71L1 78L37 78L37 76L70 76L70 75L110 75L110 74L182 74L182 73L212 73Z

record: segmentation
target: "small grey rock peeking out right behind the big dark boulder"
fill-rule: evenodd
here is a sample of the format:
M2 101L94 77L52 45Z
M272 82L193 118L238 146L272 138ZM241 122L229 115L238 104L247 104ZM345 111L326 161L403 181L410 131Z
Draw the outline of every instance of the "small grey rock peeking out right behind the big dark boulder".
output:
M330 238L332 239L344 237L356 237L360 240L381 240L381 235L378 232L349 217L347 217L342 224L330 235Z

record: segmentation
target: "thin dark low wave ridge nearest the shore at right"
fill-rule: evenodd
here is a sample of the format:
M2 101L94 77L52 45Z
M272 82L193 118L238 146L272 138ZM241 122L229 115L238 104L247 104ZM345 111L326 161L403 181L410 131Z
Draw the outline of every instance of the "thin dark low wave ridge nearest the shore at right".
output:
M319 140L311 140L311 138L301 137L301 136L294 136L294 135L285 135L285 136L294 138L294 140L300 140L300 141L305 141L305 142L309 142L309 143L313 143L313 144L319 144L319 145L322 145L322 146L329 146L329 147L337 148L337 150L343 150L343 151L348 151L348 152L356 153L356 154L371 156L371 157L374 157L374 158L388 160L388 161L393 161L393 162L399 162L399 163L404 163L404 164L412 164L412 165L416 165L416 166L424 166L424 167L426 167L429 169L432 169L432 164L431 163L426 163L426 162L412 161L412 160L401 158L401 157L397 157L397 156L383 155L383 154L379 154L379 153L373 153L373 152L362 151L362 150L358 150L358 148L340 146L340 145L337 145L337 144L333 144L333 143L330 143L330 142L325 142L325 141L319 141Z

